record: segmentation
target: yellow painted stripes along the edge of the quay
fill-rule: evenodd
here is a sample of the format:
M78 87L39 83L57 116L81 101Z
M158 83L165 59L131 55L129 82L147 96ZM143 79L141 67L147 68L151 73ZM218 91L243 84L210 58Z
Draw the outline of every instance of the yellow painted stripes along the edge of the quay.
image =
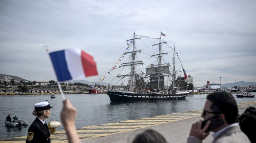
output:
M244 107L248 105L256 104L256 101L249 101L238 103L238 107ZM82 127L77 129L78 136L80 140L93 139L98 137L107 136L110 134L132 131L139 128L145 128L150 126L155 126L159 124L165 124L170 122L175 122L179 120L184 120L188 118L201 116L203 109L185 111L180 113L172 113L167 115L158 115L150 118L141 118L135 120L121 121L117 123L106 123L100 125L93 125ZM0 143L23 143L26 141L27 136L15 137L11 139L0 140ZM32 137L33 138L33 137ZM67 142L67 136L65 131L56 131L51 134L51 142Z

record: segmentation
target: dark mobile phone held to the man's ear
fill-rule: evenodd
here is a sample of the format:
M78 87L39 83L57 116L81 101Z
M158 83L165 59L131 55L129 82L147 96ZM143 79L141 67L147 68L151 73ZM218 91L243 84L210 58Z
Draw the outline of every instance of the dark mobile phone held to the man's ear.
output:
M208 131L212 131L220 126L222 126L224 124L224 121L223 119L221 118L221 115L219 114L216 114L210 118L207 118L205 119L203 122L202 122L202 126L201 126L201 129L204 128L205 124L208 122L208 121L211 121L211 124L210 126L208 127L208 129L205 131L205 132L208 132Z

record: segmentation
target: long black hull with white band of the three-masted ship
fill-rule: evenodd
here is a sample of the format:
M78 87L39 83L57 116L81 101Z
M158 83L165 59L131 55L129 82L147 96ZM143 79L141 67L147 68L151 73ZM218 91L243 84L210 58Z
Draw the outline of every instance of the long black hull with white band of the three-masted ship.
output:
M188 93L176 93L176 94L155 94L150 92L130 92L130 91L115 91L108 90L106 92L109 95L111 102L126 102L126 101L158 101L158 100L182 100Z

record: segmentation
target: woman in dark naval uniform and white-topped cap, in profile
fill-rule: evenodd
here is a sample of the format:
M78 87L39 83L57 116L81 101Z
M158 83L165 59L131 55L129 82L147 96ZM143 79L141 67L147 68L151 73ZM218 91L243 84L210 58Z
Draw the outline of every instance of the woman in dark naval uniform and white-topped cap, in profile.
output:
M49 102L43 101L35 104L33 115L37 116L28 129L26 143L50 143L50 131L44 119L49 118L52 108Z

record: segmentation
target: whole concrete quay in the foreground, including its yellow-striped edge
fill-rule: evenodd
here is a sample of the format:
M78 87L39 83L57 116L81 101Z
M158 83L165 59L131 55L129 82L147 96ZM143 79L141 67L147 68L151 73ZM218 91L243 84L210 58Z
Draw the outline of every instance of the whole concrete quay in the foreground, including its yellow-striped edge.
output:
M243 113L248 107L256 107L256 101L238 103L239 113ZM203 108L203 107L202 107ZM82 143L130 143L137 133L146 129L154 129L160 132L171 143L185 143L189 135L190 127L196 121L202 119L203 109L159 115L150 118L107 123L87 126L77 129ZM0 140L0 143L25 142L26 136ZM209 135L204 143L213 140ZM65 131L56 131L51 134L51 142L67 142Z

